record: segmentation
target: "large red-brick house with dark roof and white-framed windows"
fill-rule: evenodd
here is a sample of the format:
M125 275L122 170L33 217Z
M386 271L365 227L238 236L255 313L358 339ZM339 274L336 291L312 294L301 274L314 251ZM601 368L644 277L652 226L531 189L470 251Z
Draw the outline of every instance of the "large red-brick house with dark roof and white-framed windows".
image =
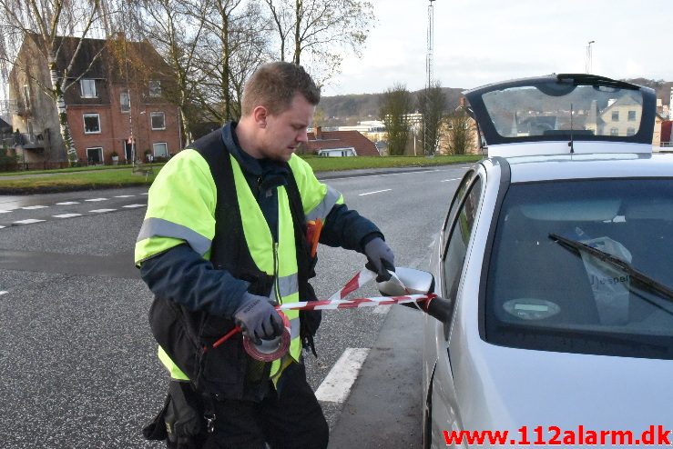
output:
M56 65L65 73L79 39L60 39ZM95 60L95 55L100 56ZM178 108L163 95L169 73L147 41L83 39L67 80L76 80L76 85L65 94L67 122L81 164L109 164L114 154L120 163L130 163L133 151L137 160L144 160L146 151L155 158L179 151ZM9 82L12 127L22 134L16 154L27 164L66 161L56 105L36 79L50 85L46 59L28 35Z

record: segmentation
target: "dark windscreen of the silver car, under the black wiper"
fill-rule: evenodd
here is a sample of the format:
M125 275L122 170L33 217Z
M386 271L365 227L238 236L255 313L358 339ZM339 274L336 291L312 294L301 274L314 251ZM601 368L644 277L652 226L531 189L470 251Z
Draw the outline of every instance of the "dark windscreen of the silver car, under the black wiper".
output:
M673 297L555 236L673 289L673 179L511 185L483 297L484 336L495 344L673 358Z

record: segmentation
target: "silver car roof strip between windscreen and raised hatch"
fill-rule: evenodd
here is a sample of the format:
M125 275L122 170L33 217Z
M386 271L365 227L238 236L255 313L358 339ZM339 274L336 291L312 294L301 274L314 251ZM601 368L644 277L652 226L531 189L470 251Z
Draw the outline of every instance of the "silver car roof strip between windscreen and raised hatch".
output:
M580 154L498 157L512 183L591 178L673 178L673 154ZM486 167L489 170L489 167Z

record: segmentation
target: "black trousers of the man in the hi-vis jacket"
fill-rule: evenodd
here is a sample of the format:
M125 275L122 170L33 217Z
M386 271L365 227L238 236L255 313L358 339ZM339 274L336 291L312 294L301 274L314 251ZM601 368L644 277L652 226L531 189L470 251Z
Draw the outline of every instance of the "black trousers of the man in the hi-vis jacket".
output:
M205 406L205 404L203 404ZM329 427L318 400L306 382L303 364L291 364L280 376L277 388L260 403L213 401L216 419L211 433L189 445L168 443L182 449L324 449Z

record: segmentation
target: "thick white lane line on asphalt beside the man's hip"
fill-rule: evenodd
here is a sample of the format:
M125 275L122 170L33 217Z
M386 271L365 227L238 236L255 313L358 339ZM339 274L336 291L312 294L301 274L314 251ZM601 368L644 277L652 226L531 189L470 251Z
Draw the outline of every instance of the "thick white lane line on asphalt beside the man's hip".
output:
M342 403L351 393L352 384L360 373L360 368L369 354L369 348L346 348L330 373L315 391L319 401Z

